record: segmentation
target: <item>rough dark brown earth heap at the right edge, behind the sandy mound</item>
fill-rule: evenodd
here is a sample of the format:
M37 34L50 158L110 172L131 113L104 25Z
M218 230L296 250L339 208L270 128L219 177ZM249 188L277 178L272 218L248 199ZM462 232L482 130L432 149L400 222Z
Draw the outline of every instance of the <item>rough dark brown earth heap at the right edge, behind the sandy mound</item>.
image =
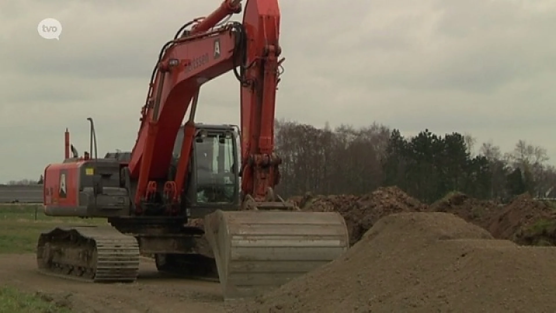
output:
M522 194L494 216L487 229L496 238L519 244L556 246L556 210Z

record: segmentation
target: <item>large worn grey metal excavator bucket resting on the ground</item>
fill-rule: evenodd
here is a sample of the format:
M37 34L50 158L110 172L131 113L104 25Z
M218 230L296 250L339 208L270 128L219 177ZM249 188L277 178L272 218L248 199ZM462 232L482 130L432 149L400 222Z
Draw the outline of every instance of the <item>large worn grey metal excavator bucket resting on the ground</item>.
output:
M252 297L283 285L349 247L335 212L216 211L205 217L224 299Z

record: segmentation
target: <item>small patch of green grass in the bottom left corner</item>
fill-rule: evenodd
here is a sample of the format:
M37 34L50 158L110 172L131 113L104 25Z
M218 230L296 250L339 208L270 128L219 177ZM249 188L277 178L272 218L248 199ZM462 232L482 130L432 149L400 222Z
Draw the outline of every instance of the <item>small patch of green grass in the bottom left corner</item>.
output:
M41 294L29 294L14 287L0 287L0 313L66 313L69 301Z

